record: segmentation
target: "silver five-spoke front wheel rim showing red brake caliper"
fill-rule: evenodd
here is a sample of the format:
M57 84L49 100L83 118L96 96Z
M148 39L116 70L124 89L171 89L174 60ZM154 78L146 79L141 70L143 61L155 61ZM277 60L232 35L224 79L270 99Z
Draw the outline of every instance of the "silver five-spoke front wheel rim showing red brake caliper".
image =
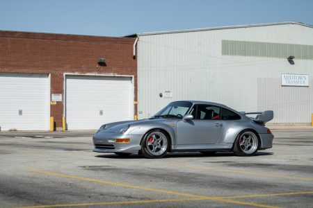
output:
M147 152L151 155L158 156L166 152L168 148L168 139L162 132L151 132L145 141Z

